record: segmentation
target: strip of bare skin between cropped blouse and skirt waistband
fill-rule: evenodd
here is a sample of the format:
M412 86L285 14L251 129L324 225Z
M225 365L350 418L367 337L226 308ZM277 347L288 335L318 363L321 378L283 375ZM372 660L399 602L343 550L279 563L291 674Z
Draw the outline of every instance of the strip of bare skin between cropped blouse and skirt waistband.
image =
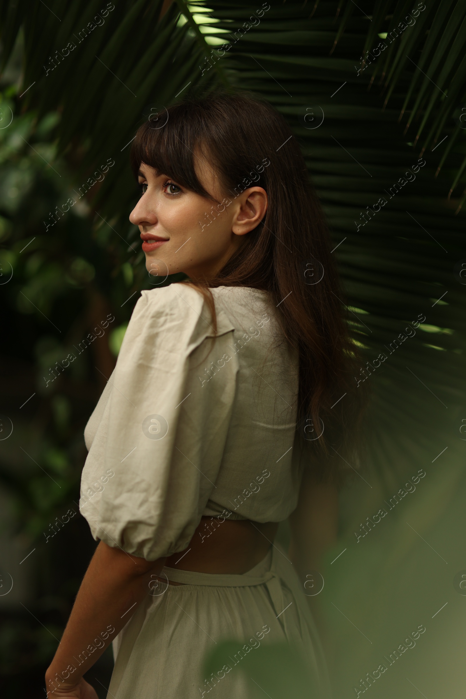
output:
M168 556L165 565L177 570L242 575L266 556L277 529L278 522L202 517L187 549Z

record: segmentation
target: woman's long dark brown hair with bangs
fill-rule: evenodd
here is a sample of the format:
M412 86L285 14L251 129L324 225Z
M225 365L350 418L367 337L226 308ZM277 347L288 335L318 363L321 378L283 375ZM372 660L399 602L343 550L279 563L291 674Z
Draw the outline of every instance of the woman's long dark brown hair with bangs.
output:
M210 199L212 218L225 204L217 206L199 182L198 156L217 172L230 199L259 185L269 204L263 221L219 274L196 285L210 295L211 308L209 287L268 291L286 340L299 352L302 445L319 445L316 473L335 477L355 456L365 396L362 387L356 390L361 363L349 336L328 226L298 141L267 103L216 93L175 104L145 122L133 140L131 166L137 177L143 162Z

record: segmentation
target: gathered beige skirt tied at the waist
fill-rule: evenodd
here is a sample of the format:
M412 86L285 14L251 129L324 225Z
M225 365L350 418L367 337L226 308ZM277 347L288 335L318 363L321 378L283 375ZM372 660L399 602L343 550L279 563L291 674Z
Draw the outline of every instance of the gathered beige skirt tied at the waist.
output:
M163 568L163 574L185 584L154 581L145 602L113 642L115 668L107 699L270 696L263 682L256 681L261 676L254 677L251 661L259 658L260 646L284 643L300 656L312 678L309 696L330 699L314 621L282 547L270 547L261 563L244 575L174 568ZM205 677L205 656L226 641L231 642L230 660ZM289 690L296 696L292 686Z

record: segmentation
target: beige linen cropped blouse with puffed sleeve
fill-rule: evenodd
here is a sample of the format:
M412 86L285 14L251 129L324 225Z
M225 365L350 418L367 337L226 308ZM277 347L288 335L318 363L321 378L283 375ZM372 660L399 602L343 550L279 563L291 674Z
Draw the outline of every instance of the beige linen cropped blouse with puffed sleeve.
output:
M149 561L186 549L203 515L282 521L298 502L298 355L265 291L211 291L217 334L188 284L142 292L85 428L80 511Z

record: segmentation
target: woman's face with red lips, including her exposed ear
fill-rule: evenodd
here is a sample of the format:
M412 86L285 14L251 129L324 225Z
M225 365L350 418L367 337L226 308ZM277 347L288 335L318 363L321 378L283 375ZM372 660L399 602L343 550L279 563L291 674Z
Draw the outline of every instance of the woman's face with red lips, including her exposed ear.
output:
M268 201L262 187L249 187L233 199L222 192L205 161L196 173L220 204L140 165L143 194L129 220L139 227L146 268L153 277L178 272L193 280L213 277L265 215Z

